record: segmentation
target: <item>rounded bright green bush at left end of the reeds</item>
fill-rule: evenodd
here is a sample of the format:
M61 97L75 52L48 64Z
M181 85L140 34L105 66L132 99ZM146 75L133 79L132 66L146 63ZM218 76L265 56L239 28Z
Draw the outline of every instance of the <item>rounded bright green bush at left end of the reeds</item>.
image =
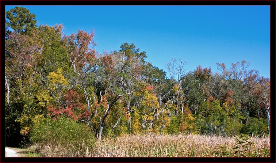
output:
M79 145L83 141L91 145L96 141L94 134L85 124L65 117L53 120L41 116L36 116L33 120L31 140L35 143L56 141L63 146L67 146L67 144Z

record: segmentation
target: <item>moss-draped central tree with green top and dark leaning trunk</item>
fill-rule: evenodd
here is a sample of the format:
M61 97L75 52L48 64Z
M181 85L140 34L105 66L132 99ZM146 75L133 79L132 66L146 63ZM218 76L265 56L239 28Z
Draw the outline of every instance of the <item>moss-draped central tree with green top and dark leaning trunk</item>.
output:
M99 123L97 129L98 140L101 140L102 130L106 117L110 110L116 110L114 107L117 101L124 103L125 112L122 112L118 120L114 122L113 129L119 125L122 115L128 115L128 129L131 131L131 101L133 93L138 91L143 83L144 65L146 62L145 52L135 49L134 44L124 43L119 52L114 51L110 54L105 53L100 59L102 62L102 88L106 94L107 110ZM117 109L120 107L117 107Z

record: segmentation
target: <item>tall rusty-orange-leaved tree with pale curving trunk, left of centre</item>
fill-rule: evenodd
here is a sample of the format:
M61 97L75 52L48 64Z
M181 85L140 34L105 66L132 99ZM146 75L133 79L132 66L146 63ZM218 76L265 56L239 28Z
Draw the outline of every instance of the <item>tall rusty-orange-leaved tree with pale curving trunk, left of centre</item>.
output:
M74 79L75 84L80 85L83 90L88 112L91 110L90 104L92 104L92 102L86 92L86 78L89 74L95 73L95 67L97 67L97 64L95 64L97 59L95 57L94 49L96 44L94 43L93 37L93 30L90 33L79 30L77 34L64 36L67 55L69 56L69 61L71 62L71 66L75 73L72 74L71 77ZM91 127L90 116L88 116L87 123Z

